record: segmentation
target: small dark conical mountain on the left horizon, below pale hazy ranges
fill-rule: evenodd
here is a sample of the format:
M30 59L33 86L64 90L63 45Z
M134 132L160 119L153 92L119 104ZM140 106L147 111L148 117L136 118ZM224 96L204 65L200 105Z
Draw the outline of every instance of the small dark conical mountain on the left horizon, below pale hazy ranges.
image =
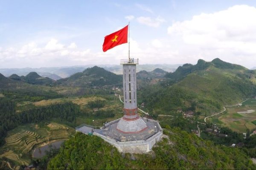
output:
M36 85L50 85L54 82L53 79L48 77L41 77L36 72L30 72L24 77L24 81L29 84Z

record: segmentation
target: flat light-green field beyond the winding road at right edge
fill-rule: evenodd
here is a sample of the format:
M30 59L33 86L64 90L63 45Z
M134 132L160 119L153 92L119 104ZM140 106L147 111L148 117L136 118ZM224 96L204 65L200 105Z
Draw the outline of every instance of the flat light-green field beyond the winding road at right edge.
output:
M246 133L246 129L250 131L256 129L256 103L251 105L251 103L256 101L256 99L249 99L244 102L242 107L231 107L227 108L227 112L221 114L218 117L210 118L212 123L216 123L221 126L229 127L230 129L239 132ZM246 105L245 105L246 104ZM250 104L250 105L247 105ZM248 110L255 110L253 113L237 113ZM216 121L218 120L218 121Z

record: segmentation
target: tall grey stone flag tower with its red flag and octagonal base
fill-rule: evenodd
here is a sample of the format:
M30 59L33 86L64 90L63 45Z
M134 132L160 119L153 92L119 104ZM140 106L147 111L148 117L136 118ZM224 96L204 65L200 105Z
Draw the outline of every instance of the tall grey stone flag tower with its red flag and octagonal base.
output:
M125 37L122 39L123 35ZM120 152L145 153L149 152L154 144L161 140L163 130L157 121L142 118L138 114L136 65L139 64L139 59L130 57L130 27L125 26L125 28L105 37L103 51L115 47L115 42L121 41L117 45L127 43L127 37L128 59L122 59L120 62L123 67L123 116L120 119L105 123L100 129L81 125L76 127L76 131L85 134L93 131L93 135L101 137Z

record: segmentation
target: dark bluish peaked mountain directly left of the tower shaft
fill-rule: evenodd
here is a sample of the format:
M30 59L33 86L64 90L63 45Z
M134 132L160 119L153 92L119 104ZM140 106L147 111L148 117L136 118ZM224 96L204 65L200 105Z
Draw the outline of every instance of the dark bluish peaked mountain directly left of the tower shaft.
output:
M94 66L87 68L83 72L73 74L72 76L59 79L56 84L73 85L73 86L104 86L104 85L121 85L122 76L116 75L104 68Z

